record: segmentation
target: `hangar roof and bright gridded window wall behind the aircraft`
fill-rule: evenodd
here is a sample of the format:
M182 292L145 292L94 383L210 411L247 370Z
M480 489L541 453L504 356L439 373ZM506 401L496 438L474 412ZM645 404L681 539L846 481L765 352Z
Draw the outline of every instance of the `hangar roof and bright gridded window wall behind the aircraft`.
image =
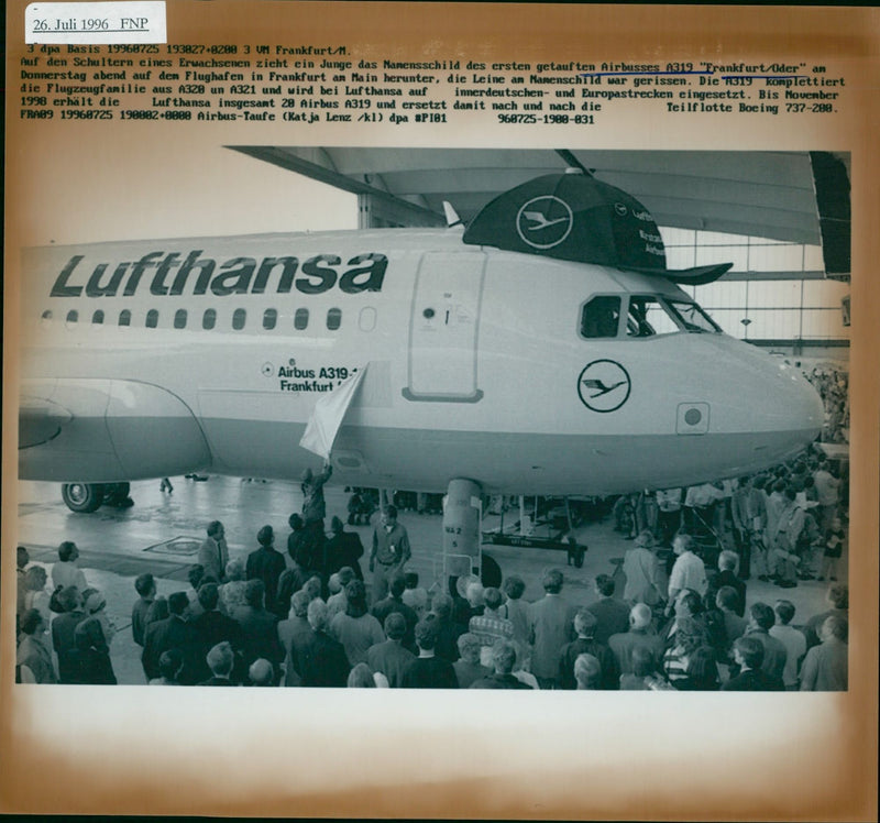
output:
M530 178L575 167L645 205L671 268L733 262L685 286L728 333L773 353L848 360L849 154L229 146L356 195L359 228L468 223Z

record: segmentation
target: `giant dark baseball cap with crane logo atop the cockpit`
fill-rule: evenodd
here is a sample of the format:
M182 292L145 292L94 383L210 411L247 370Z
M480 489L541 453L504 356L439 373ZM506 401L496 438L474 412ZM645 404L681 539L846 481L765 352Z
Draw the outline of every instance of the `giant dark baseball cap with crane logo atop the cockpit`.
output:
M712 283L733 266L667 268L663 240L648 209L580 168L542 175L498 195L471 221L463 240L690 285Z

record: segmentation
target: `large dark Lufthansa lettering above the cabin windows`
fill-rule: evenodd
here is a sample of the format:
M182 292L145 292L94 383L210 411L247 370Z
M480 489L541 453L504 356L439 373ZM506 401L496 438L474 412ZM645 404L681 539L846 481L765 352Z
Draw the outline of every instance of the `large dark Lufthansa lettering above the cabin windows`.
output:
M168 297L209 293L228 297L258 295L271 289L277 294L296 289L318 295L336 285L345 294L360 294L380 292L388 267L388 259L375 252L356 254L344 264L338 254L317 254L304 260L301 266L293 255L262 260L242 256L218 262L202 254L201 250L155 251L135 262L97 263L88 274L88 267L80 267L85 255L76 254L58 274L50 296L133 297L148 290L151 295Z

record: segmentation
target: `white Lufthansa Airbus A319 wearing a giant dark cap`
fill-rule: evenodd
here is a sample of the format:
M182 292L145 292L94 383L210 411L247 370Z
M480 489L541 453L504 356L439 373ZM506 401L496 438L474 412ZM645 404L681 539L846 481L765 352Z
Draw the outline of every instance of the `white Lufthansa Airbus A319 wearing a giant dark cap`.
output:
M350 485L606 495L754 472L823 408L676 285L728 267L667 270L641 204L585 174L466 229L29 250L19 475L75 511L138 479L298 478L322 409Z

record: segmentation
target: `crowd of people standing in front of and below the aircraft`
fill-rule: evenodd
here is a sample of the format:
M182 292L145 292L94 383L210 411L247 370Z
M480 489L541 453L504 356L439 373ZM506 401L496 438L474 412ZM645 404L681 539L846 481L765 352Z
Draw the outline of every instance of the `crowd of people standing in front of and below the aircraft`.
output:
M827 492L835 489L834 473L816 461L811 474L811 458L798 460L784 474L750 478L729 498L718 496L712 505L729 516L736 539L712 562L681 511L688 495L678 518L669 516L675 514L666 505L671 497L658 495L658 516L645 522L620 573L598 574L583 604L565 596L559 569L546 570L542 595L531 602L516 575L499 588L471 575L448 592L429 592L407 568L411 547L394 506L374 518L367 552L338 517L327 535L322 486L330 469L308 472L302 511L288 520L287 558L271 526L257 530L246 557L230 557L223 524L215 520L187 589L162 597L152 574L136 578L131 634L143 682L846 690L848 588L834 573L844 517ZM809 476L814 482L807 486ZM815 529L801 541L796 534L807 518ZM20 682L117 682L116 628L105 595L88 585L77 559L76 546L63 542L50 586L45 569L29 566L26 549L19 548ZM772 574L783 589L816 573L828 577L829 607L798 615L784 597L755 601L747 582L754 573Z

